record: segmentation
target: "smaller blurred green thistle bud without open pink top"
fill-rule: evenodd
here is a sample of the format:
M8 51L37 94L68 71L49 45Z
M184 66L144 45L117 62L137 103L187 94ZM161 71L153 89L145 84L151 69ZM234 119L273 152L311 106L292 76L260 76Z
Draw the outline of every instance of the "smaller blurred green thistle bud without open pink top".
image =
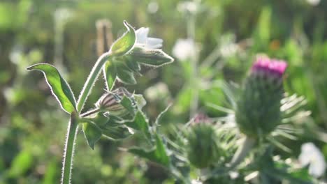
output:
M209 167L221 155L217 133L209 123L196 123L187 134L187 158L197 168Z

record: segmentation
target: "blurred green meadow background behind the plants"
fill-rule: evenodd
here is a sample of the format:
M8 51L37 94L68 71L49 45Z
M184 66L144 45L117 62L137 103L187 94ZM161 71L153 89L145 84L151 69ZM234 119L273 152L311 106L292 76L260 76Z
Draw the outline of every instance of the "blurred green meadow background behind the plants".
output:
M113 38L124 32L123 20L150 27L150 36L163 38L163 50L170 55L177 39L196 41L196 82L191 59L177 58L163 68L143 68L138 84L127 86L145 93L145 112L152 120L173 103L163 127L194 115L189 113L190 91L198 89L195 112L217 117L221 112L205 104L224 106L226 100L210 82L242 82L256 54L284 59L289 63L286 91L304 95L305 109L312 112L312 118L299 123L321 132L305 132L291 143L294 152L287 156L297 158L301 142L317 138L327 156L326 10L322 0L208 0L197 1L196 7L175 0L1 0L0 183L59 183L68 114L59 109L43 75L25 68L52 63L78 95L98 57L96 21L101 19L110 20ZM158 90L163 93L156 95ZM85 109L103 92L101 77ZM92 151L79 133L72 183L172 182L160 167L119 150L130 144L101 139Z

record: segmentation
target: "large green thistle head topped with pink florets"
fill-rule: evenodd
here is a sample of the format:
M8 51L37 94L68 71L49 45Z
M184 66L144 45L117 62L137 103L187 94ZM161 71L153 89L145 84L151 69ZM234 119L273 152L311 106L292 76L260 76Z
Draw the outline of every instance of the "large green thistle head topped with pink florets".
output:
M252 66L235 111L238 128L245 135L267 135L281 122L280 101L286 66L284 61L268 58L259 58Z

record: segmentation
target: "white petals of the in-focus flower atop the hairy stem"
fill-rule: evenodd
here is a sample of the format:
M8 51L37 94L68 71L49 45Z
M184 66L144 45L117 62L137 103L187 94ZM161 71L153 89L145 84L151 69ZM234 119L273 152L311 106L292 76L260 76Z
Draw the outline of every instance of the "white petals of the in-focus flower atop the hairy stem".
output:
M136 30L135 33L136 45L146 47L148 49L160 49L162 47L162 39L147 37L149 34L148 27L141 27L140 29Z

